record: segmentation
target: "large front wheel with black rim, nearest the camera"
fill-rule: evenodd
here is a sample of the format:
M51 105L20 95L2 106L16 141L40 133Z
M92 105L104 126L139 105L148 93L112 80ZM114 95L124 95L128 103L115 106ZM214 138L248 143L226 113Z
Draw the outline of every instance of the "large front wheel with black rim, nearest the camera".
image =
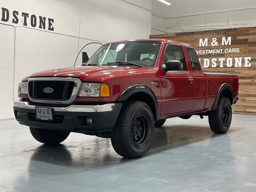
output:
M124 103L111 132L116 153L126 158L144 156L152 143L154 117L148 105L141 101Z

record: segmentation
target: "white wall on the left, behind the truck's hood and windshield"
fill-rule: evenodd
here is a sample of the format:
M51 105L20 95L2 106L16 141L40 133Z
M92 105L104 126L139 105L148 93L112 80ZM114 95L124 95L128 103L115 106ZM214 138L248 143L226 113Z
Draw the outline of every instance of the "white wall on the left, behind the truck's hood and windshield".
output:
M150 1L134 1L133 4L151 9ZM77 49L79 21L81 19L79 50L92 41L111 42L124 39L148 38L151 33L151 12L124 1L8 1L1 0L0 9L10 11L8 22L0 21L0 119L13 118L12 95L14 76L14 99L20 80L34 72L74 65ZM14 24L12 12L19 11L19 23ZM1 10L0 10L1 11ZM21 12L29 13L28 28L22 27ZM54 19L54 31L38 30L30 26L30 15ZM2 18L2 11L1 11ZM39 22L37 20L37 22ZM47 26L47 25L46 25ZM89 57L99 45L86 47ZM78 58L81 64L82 56Z

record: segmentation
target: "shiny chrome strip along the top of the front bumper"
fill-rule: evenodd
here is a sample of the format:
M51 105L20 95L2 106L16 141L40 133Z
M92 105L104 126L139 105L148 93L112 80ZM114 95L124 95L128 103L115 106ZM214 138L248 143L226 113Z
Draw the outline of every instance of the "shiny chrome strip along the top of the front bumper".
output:
M37 106L40 106L37 105ZM14 101L13 107L24 109L35 109L35 105L30 105L27 101ZM50 106L49 106L50 107ZM59 112L107 112L112 111L115 103L105 105L70 105L68 107L52 107L54 111Z

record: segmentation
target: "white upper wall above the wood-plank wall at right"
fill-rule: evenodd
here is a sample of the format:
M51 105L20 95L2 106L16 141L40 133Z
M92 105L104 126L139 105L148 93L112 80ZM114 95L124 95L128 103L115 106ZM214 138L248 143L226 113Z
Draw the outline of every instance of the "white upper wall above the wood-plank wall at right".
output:
M167 33L256 26L255 0L152 0L152 28ZM241 10L244 9L244 10ZM199 15L198 15L199 14ZM162 22L160 21L162 20ZM165 25L165 30L164 26ZM151 29L151 34L164 34Z

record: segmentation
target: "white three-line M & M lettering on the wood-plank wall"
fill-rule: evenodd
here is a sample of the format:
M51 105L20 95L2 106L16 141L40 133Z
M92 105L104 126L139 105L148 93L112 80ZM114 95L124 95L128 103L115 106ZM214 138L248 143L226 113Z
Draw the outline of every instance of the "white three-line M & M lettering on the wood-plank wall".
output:
M208 39L209 38L200 38L199 39L199 47L207 47L208 46ZM212 38L211 44L209 46L228 46L231 45L232 39L231 36L228 36L227 38L221 37L221 42L218 41L216 37ZM221 48L221 49L200 49L196 50L196 53L198 54L198 57L200 58L200 54L223 54L223 53L239 53L240 48ZM201 59L199 59L201 62ZM209 60L208 58L204 58L204 68L212 67L216 68L217 66L220 68L223 68L224 65L227 67L251 67L250 63L251 57L239 57L239 54L237 54L237 57L228 57L228 58L212 58Z

